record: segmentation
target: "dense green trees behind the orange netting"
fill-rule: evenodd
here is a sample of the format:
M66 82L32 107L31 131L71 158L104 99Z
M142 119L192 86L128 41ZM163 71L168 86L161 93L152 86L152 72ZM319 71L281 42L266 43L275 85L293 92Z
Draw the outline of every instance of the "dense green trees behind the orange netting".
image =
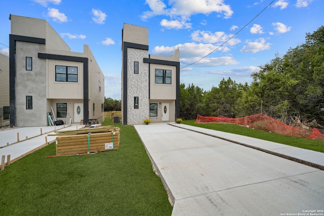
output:
M183 119L223 115L230 118L264 113L285 123L292 116L305 121L324 121L324 26L306 33L305 43L278 54L251 84L223 78L210 91L180 84L180 115Z

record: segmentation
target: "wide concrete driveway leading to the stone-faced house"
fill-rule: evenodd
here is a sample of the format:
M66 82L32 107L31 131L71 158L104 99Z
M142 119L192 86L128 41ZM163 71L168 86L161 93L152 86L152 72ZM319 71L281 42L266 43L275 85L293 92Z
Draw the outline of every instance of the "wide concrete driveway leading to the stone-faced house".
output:
M306 215L324 209L323 170L212 136L319 165L324 153L171 124L135 128L169 193L172 215Z

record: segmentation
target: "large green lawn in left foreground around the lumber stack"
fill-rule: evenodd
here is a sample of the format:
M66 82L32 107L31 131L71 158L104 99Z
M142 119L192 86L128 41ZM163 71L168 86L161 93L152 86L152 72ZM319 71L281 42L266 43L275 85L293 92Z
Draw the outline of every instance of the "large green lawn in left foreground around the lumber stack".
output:
M118 150L46 158L56 154L53 143L6 166L0 215L171 215L135 128L115 126Z

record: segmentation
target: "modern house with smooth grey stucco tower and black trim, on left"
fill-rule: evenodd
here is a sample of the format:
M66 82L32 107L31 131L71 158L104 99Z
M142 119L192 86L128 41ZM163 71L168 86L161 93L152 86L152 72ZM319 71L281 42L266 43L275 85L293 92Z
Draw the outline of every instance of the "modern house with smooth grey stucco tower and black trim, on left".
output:
M46 126L49 112L64 122L103 121L104 75L89 46L71 52L46 20L9 19L10 126Z

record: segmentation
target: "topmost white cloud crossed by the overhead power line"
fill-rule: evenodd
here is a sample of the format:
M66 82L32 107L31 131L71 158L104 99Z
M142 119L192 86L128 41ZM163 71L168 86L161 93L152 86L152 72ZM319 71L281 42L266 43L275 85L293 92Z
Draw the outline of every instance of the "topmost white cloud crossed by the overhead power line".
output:
M191 33L191 39L194 41L198 42L206 42L210 44L215 44L215 43L222 43L228 40L232 34L225 34L223 31L216 31L215 33L212 33L210 31L194 31ZM228 42L227 45L233 46L236 45L240 42L239 39L236 38L231 38Z

